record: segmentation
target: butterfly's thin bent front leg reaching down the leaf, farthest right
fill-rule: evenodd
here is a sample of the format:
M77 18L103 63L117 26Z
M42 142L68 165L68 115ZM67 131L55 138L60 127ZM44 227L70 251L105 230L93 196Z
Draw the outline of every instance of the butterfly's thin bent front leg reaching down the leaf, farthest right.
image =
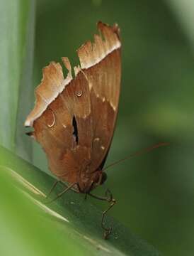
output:
M104 230L103 238L107 239L108 236L110 235L110 233L112 232L112 228L111 227L110 228L105 227L104 218L105 218L106 213L108 213L108 210L110 210L115 205L116 201L113 198L113 195L112 195L112 193L110 192L109 189L107 191L105 191L105 197L95 196L91 193L89 193L89 196L91 196L93 198L96 198L98 200L107 201L108 203L110 203L110 206L106 210L103 211L102 218L101 218L101 227Z

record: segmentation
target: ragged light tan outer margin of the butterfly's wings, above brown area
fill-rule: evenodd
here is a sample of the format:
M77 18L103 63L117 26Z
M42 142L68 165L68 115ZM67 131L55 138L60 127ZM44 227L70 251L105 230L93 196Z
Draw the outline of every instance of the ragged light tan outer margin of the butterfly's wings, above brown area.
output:
M95 34L94 42L87 41L78 50L79 65L74 67L75 76L81 69L91 68L93 65L101 62L109 53L121 47L120 30L118 25L108 26L108 24L99 21L97 23L98 31L102 36ZM42 69L42 80L35 89L35 107L25 120L25 127L33 127L35 119L41 116L51 102L65 89L73 80L72 68L68 58L62 58L64 66L68 70L67 77L64 78L62 66L60 63L52 62Z

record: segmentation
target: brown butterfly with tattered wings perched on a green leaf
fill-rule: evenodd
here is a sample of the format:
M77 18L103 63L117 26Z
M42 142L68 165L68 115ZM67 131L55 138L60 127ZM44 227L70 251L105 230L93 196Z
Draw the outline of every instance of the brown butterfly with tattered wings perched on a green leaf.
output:
M81 67L74 67L74 78L68 58L62 58L68 70L66 78L59 63L43 69L35 90L35 107L25 126L34 128L28 135L45 150L52 173L69 184L62 193L73 188L110 202L109 210L115 204L110 191L105 198L91 191L106 179L103 165L113 139L120 96L121 43L117 25L98 22L98 30L100 35L94 35L93 43L87 41L77 50ZM103 223L108 210L103 212L101 223L105 238L111 232Z

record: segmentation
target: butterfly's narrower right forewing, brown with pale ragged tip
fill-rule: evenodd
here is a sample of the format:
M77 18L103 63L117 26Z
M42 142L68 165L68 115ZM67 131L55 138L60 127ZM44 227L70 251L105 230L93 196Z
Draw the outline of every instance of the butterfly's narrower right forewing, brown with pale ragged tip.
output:
M121 60L118 26L98 22L102 37L79 48L81 68L89 81L93 122L92 168L102 168L108 154L120 96Z

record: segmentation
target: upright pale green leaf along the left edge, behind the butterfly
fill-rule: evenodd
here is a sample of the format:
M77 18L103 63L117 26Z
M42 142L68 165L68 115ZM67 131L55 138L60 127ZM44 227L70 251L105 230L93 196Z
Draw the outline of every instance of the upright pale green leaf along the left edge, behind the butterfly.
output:
M28 112L33 94L34 24L34 0L1 1L0 95L3 97L0 101L0 144L14 151L17 134L18 151L25 158L28 158L31 146L25 138L22 142L19 134L23 133L22 118Z

